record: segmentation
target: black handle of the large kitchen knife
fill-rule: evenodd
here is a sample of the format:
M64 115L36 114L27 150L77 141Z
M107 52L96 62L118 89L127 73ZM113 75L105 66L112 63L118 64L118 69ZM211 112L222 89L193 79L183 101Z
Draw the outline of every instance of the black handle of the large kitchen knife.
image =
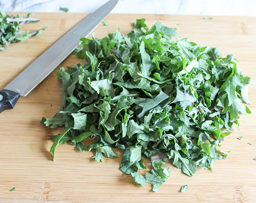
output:
M13 109L19 97L19 93L11 90L0 90L0 113L7 109Z

